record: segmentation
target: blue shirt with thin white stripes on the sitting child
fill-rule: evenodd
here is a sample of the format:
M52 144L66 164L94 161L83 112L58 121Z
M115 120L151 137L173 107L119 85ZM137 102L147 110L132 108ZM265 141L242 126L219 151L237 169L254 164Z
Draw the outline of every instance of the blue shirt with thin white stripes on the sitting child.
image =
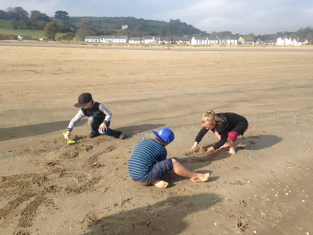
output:
M128 171L133 179L142 179L150 171L156 161L166 159L166 148L154 139L143 139L135 147L128 161Z

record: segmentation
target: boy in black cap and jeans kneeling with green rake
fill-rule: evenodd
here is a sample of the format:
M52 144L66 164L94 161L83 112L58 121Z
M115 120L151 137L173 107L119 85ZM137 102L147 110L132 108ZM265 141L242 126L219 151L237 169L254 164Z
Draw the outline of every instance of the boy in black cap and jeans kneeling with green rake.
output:
M93 101L90 93L81 94L78 97L78 103L74 104L74 106L80 107L80 111L70 121L64 138L69 139L74 126L83 117L88 117L87 122L91 128L91 133L88 135L89 138L94 138L100 134L120 139L124 138L124 133L109 128L112 113L103 104Z

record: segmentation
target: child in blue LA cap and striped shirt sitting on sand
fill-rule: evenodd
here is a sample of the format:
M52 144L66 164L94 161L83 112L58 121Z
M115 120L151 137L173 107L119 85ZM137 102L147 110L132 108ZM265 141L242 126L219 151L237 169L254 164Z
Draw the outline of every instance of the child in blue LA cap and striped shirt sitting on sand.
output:
M171 129L163 127L158 132L152 131L154 139L143 139L135 147L128 162L128 171L131 178L141 185L153 184L164 189L168 183L160 180L170 170L177 175L190 178L194 182L203 182L209 179L210 174L200 174L188 170L177 160L167 159L165 146L174 140Z

